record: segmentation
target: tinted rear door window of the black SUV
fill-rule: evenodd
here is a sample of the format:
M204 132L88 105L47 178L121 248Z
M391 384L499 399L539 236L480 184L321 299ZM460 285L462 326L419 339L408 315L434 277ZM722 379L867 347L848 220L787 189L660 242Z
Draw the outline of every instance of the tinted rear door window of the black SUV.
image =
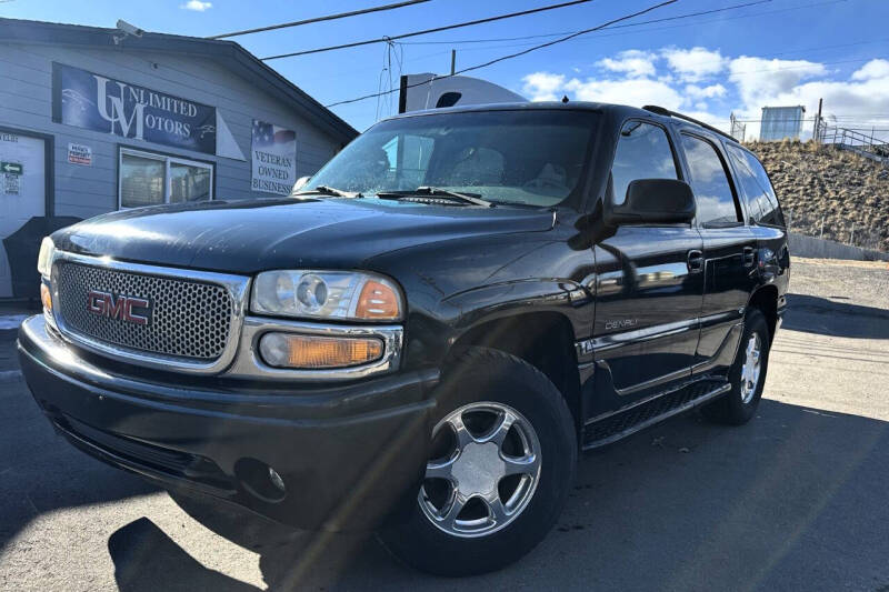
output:
M726 224L741 220L726 167L716 147L693 136L682 134L691 189L698 203L698 221Z

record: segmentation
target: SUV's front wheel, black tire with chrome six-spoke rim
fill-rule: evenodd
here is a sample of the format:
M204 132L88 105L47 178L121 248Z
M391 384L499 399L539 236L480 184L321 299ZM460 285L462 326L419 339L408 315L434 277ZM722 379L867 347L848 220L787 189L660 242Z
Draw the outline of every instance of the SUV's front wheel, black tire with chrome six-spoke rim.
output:
M527 362L472 348L437 393L431 458L407 522L379 533L392 554L439 575L498 570L558 519L577 463L561 393Z

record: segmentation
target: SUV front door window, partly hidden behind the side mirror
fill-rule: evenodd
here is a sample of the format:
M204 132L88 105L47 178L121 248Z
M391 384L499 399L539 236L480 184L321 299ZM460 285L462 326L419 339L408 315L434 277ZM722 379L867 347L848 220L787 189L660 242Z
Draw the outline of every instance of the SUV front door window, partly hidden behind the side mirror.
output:
M615 203L623 203L627 187L637 179L679 179L679 175L667 132L658 126L628 121L620 130L611 165Z

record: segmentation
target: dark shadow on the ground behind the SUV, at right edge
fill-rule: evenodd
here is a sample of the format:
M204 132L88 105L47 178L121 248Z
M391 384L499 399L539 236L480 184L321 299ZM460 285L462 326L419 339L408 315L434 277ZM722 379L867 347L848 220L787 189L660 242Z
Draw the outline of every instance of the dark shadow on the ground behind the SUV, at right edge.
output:
M788 294L783 328L842 338L889 339L889 310L833 299Z

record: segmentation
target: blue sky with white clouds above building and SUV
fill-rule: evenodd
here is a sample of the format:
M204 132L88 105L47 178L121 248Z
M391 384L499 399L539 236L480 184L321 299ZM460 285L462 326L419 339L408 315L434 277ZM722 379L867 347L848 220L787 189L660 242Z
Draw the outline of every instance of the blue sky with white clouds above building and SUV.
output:
M12 0L0 16L113 27L122 18L149 31L209 36L288 20L368 8L391 0L339 2L159 0L86 2ZM259 57L485 18L556 3L557 0L431 0L389 12L239 37ZM749 0L748 0L749 1ZM551 38L498 40L571 32L595 27L649 1L595 0L527 17L408 39L396 46L393 67L386 44L294 57L269 64L328 104L397 87L399 72L439 72L526 49ZM675 17L745 3L745 0L679 0L636 19ZM147 8L150 7L150 8ZM194 10L193 8L203 8ZM635 21L628 21L635 22ZM529 99L656 103L697 114L720 127L730 112L756 120L766 104L805 104L848 127L889 130L889 1L771 0L680 21L601 31L505 61L472 73ZM434 43L432 43L434 42ZM398 62L401 61L399 68ZM396 100L376 99L333 110L359 130L389 114ZM810 127L807 124L807 127ZM751 121L748 136L757 133ZM889 131L885 133L889 137Z

